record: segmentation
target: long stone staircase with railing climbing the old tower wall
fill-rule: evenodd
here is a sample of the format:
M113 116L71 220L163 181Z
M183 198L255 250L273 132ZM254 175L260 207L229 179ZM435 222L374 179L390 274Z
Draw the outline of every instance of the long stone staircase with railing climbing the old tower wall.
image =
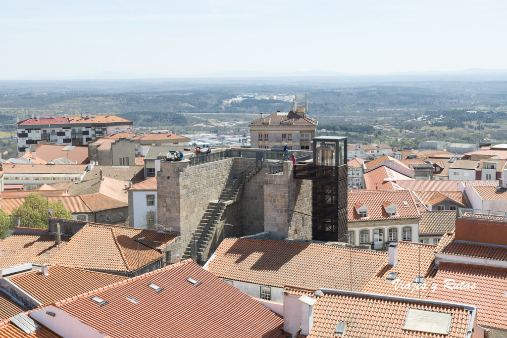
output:
M246 172L247 170L249 172ZM241 172L238 177L233 178L225 184L218 200L209 202L195 231L196 257L200 257L208 247L209 241L216 232L216 228L219 226L219 223L223 221L222 216L225 208L237 201L243 185L257 174L259 170L261 169L257 166L257 162L252 163L252 165ZM184 259L194 258L192 257L193 246L194 239L191 239L183 254Z

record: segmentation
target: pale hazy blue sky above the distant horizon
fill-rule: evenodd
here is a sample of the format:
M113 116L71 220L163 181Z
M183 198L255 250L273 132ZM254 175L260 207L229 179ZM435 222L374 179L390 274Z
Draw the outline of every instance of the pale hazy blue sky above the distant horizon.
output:
M0 79L507 68L507 2L0 0Z

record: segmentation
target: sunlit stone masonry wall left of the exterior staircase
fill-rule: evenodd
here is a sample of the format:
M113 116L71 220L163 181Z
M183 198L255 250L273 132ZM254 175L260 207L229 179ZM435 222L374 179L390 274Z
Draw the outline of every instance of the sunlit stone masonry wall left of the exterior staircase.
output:
M172 254L183 254L209 202L232 178L234 159L190 167L190 161L162 162L157 173L158 222L180 236Z

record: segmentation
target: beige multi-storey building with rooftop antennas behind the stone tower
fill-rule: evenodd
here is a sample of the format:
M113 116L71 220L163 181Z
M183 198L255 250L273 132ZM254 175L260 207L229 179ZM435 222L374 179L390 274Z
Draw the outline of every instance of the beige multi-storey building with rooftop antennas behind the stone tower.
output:
M293 106L289 112L277 111L250 123L250 146L282 149L285 143L293 150L311 150L317 120L306 116L306 106Z

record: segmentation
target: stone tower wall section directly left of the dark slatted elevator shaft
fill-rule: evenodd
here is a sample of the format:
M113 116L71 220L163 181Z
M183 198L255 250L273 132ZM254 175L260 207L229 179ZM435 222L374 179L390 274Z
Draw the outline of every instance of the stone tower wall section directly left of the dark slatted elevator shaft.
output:
M311 239L311 181L294 180L290 161L283 173L264 180L264 231L279 239Z

